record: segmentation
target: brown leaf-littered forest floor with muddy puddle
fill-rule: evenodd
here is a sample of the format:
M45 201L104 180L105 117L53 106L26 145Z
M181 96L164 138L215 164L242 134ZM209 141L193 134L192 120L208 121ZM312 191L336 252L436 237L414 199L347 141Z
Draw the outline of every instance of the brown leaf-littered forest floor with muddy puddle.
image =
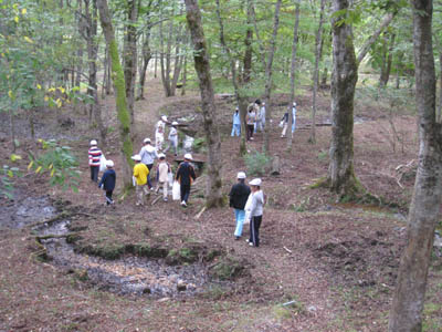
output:
M144 137L154 138L160 114L179 118L199 103L196 92L165 98L158 81L146 87L148 98L135 107L135 149ZM23 174L15 198L0 199L0 331L386 331L414 180L407 172L398 181L397 167L417 159L415 117L391 117L391 110L357 102L355 170L381 204L336 203L327 189L311 186L327 174L330 141L330 127L318 126L317 143L308 143L311 92L297 100L292 152L277 127L288 96L274 101L271 152L281 158L281 175L262 176L269 204L259 248L244 241L246 227L234 240L228 207L196 217L206 175L197 180L188 208L161 199L152 205L155 194L137 207L133 193L122 196L119 183L115 207L105 207L87 166L88 142L97 133L81 110L65 111L63 117L75 122L67 128L54 111L39 114L36 137L60 139L81 160L78 193L51 187L48 175L25 170L27 151L35 143L19 116L17 153L23 160L17 164ZM318 123L329 121L328 108L329 93L320 93ZM232 100L217 98L225 194L236 173L246 170L238 156L239 138L230 137L232 110ZM103 101L103 112L112 128L103 149L118 175L112 97ZM261 151L262 144L257 133L248 149ZM9 155L2 128L4 163ZM66 232L69 243L39 240ZM177 291L179 283L185 290ZM442 258L435 250L427 294L424 331L442 331Z

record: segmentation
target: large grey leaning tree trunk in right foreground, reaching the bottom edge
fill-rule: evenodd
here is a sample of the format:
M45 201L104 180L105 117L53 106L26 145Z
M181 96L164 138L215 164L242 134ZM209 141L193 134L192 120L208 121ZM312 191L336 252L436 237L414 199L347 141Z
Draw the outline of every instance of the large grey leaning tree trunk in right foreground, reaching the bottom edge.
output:
M408 217L408 243L399 267L389 332L422 331L428 271L442 199L442 135L441 125L435 122L435 69L431 31L433 2L411 2L419 115L419 167Z

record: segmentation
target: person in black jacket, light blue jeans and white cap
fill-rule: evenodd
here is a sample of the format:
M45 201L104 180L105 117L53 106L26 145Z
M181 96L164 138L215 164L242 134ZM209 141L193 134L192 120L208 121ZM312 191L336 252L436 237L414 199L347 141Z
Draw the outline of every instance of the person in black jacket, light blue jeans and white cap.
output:
M229 197L230 197L230 207L234 208L235 220L236 220L234 237L235 240L239 240L242 235L242 226L244 225L244 219L245 219L244 206L250 195L250 188L248 185L244 184L245 181L244 172L238 173L236 178L238 178L238 184L232 186Z

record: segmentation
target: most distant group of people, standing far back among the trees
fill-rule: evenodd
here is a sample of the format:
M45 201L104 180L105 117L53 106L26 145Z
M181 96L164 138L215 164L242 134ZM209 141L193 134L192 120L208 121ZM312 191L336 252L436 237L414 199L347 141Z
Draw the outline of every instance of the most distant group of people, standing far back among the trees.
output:
M287 127L288 127L288 111L284 113L281 122L280 127L283 128L281 133L281 137L285 137ZM292 135L296 129L296 103L294 102L292 105ZM253 134L257 131L262 132L265 127L265 103L261 102L260 100L254 101L248 106L248 113L245 115L245 134L248 141L253 141ZM231 136L240 136L241 135L241 116L240 116L240 108L236 107L235 112L233 113L233 124L232 124L232 133Z

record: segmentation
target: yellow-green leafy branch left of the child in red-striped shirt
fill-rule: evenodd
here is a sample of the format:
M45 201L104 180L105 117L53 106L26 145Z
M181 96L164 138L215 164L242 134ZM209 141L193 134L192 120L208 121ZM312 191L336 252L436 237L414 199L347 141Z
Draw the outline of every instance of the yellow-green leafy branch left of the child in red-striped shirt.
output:
M81 172L77 169L78 162L69 146L60 146L55 139L39 139L44 153L38 157L30 154L31 163L28 169L34 169L35 174L49 173L50 184L59 185L65 190L71 188L77 191Z

